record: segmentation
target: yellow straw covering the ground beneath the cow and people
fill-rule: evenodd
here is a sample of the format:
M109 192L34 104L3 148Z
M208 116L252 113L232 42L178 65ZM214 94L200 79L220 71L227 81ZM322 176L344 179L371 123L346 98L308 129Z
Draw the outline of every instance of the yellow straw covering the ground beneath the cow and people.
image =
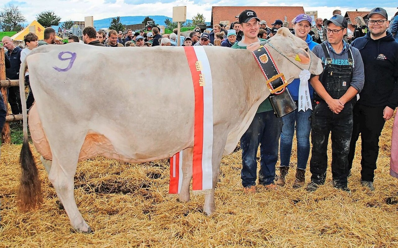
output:
M71 233L69 219L38 164L44 203L16 207L20 145L3 145L0 163L0 248L4 247L398 247L398 181L388 174L392 120L380 138L375 192L360 186L360 149L349 178L352 195L326 185L294 190L296 150L288 186L278 192L241 190L241 151L225 156L216 189L216 212L203 214L203 196L191 202L168 194L168 160L145 164L96 158L79 163L75 198L93 234ZM330 148L329 148L330 151ZM330 152L329 152L330 156ZM309 180L309 168L306 181Z

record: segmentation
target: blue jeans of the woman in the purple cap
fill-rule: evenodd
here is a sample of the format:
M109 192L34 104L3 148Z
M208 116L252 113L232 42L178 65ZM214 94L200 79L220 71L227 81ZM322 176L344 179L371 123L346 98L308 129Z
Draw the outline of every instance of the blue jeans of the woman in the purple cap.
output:
M298 101L295 101L298 105ZM311 110L306 112L295 110L282 117L283 127L281 133L281 166L289 166L292 153L293 135L296 127L297 138L297 168L306 169L310 156L310 131Z

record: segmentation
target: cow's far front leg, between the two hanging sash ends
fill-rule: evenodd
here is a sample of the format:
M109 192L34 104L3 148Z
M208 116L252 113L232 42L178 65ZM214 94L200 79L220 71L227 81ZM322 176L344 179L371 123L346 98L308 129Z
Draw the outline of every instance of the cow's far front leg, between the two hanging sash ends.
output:
M192 179L192 156L193 148L186 148L183 150L182 155L182 183L181 190L178 194L178 200L180 202L188 202L190 199L189 185Z

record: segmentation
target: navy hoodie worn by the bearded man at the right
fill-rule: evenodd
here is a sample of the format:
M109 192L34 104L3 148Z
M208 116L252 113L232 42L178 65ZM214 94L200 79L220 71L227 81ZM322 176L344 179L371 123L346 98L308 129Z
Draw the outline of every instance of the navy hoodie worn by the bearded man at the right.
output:
M398 42L390 32L373 40L370 32L355 39L365 68L365 84L357 104L369 107L398 106Z

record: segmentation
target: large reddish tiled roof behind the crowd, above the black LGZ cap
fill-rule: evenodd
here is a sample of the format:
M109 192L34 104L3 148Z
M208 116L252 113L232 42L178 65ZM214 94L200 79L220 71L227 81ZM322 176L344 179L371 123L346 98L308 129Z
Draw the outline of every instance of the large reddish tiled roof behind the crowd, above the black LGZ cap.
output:
M211 10L211 25L218 24L220 21L229 20L229 23L235 21L235 15L238 15L244 10L253 10L256 12L260 20L267 21L268 27L276 19L285 21L285 15L289 22L289 27L292 27L291 20L298 14L304 13L303 7L278 7L278 6L213 6Z

